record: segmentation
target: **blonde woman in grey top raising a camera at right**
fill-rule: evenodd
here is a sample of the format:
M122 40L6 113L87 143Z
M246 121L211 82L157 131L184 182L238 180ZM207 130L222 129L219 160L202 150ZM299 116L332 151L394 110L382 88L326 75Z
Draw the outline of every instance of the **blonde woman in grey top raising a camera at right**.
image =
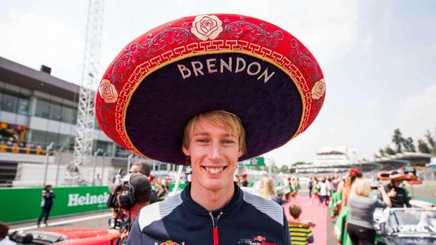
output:
M352 185L351 194L348 198L349 220L347 232L353 245L374 244L376 235L373 224L374 210L375 208L392 206L383 185L377 185L374 188L381 192L383 201L368 197L371 192L371 185L367 179L358 178Z

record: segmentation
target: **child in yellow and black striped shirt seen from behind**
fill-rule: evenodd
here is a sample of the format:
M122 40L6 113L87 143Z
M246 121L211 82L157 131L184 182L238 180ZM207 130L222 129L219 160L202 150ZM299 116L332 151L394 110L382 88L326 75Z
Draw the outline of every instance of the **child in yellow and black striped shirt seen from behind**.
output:
M296 221L300 221L301 207L298 204L291 204L289 212ZM309 227L302 227L300 224L289 224L289 235L291 244L305 245L314 242L314 235Z

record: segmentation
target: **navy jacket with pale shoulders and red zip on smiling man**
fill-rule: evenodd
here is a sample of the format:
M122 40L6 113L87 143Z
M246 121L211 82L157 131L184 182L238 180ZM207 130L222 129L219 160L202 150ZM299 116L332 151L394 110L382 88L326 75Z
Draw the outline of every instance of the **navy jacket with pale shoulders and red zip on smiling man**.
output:
M289 228L283 208L275 201L243 192L224 208L209 212L190 197L190 185L181 194L140 210L127 244L288 245Z

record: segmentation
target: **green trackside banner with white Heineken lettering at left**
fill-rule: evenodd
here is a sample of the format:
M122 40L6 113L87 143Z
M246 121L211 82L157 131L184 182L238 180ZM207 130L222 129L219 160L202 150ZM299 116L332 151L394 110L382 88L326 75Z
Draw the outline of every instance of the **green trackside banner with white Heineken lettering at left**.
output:
M50 217L105 210L107 186L53 188L56 194ZM0 188L0 221L36 220L41 213L42 188Z

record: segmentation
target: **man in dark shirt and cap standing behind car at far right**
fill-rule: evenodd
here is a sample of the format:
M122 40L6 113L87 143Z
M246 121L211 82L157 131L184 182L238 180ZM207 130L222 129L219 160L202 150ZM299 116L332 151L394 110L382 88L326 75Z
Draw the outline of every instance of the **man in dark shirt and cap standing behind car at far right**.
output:
M400 185L403 182L404 176L397 171L392 172L390 175L390 183L385 186L385 190L388 193L392 208L403 208L404 205L410 208L408 192L401 188Z

